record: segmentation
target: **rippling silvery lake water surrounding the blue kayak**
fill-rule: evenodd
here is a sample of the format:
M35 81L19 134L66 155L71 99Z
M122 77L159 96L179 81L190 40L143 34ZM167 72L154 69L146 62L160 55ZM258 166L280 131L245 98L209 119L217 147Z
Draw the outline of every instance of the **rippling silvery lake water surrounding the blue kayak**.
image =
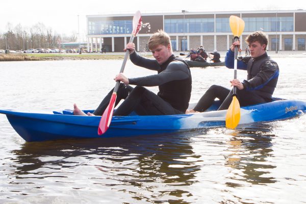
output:
M305 58L275 60L274 96L306 100ZM121 62L1 62L0 109L94 109ZM124 72L155 73L130 61ZM191 72L191 101L233 77L225 67ZM305 203L305 135L304 114L236 130L25 142L0 115L0 203Z

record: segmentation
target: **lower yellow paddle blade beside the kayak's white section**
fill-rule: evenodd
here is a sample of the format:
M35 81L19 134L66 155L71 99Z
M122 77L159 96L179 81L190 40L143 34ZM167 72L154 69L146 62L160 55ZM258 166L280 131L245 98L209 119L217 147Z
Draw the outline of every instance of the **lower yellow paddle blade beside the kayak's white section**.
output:
M240 105L236 96L233 96L232 103L228 107L225 117L225 126L230 129L235 129L240 120Z

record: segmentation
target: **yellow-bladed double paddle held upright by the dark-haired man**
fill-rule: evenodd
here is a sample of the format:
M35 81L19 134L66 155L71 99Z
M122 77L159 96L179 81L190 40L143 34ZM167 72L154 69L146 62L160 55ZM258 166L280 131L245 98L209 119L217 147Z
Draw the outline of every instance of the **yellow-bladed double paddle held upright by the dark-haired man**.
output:
M238 41L239 36L242 34L244 30L244 21L237 17L237 16L230 16L230 27L232 33L234 35L235 42ZM235 46L235 58L234 58L234 79L237 78L237 54L238 54L238 47ZM225 126L227 128L234 129L237 127L239 120L240 120L240 105L237 99L236 94L237 87L233 87L233 100L228 107L225 117Z

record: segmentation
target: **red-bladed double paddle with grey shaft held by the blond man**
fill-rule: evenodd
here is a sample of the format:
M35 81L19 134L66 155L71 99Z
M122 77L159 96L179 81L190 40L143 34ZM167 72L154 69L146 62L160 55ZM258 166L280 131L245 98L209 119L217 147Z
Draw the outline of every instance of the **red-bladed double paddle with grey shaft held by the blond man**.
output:
M132 32L132 36L130 38L129 43L133 42L135 36L140 31L141 23L142 23L141 22L141 13L140 13L140 11L137 11L134 14L134 17L133 17L133 32ZM124 55L124 59L123 59L123 62L122 62L122 66L121 66L121 69L120 69L119 73L123 72L128 56L129 56L129 50L126 50L125 55ZM101 117L101 120L100 120L99 126L98 126L98 135L104 134L110 126L112 116L113 116L113 112L114 112L114 108L115 108L115 101L116 101L116 98L117 98L117 91L118 91L118 88L119 88L119 84L120 84L120 81L117 81L116 85L115 85L115 88L114 88L114 91L113 91L113 94L112 94L112 97L111 97L111 100L110 100L110 103L109 103L108 107L105 109L105 111L104 111L104 113Z

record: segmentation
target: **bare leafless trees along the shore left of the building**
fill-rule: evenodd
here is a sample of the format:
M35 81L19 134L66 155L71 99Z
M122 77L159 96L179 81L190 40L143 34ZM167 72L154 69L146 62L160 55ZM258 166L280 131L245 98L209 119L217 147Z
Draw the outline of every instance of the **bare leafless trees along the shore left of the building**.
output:
M21 24L15 27L7 24L7 31L0 33L0 49L26 50L30 48L62 48L62 42L77 41L77 34L60 35L38 22L31 28L23 28Z

